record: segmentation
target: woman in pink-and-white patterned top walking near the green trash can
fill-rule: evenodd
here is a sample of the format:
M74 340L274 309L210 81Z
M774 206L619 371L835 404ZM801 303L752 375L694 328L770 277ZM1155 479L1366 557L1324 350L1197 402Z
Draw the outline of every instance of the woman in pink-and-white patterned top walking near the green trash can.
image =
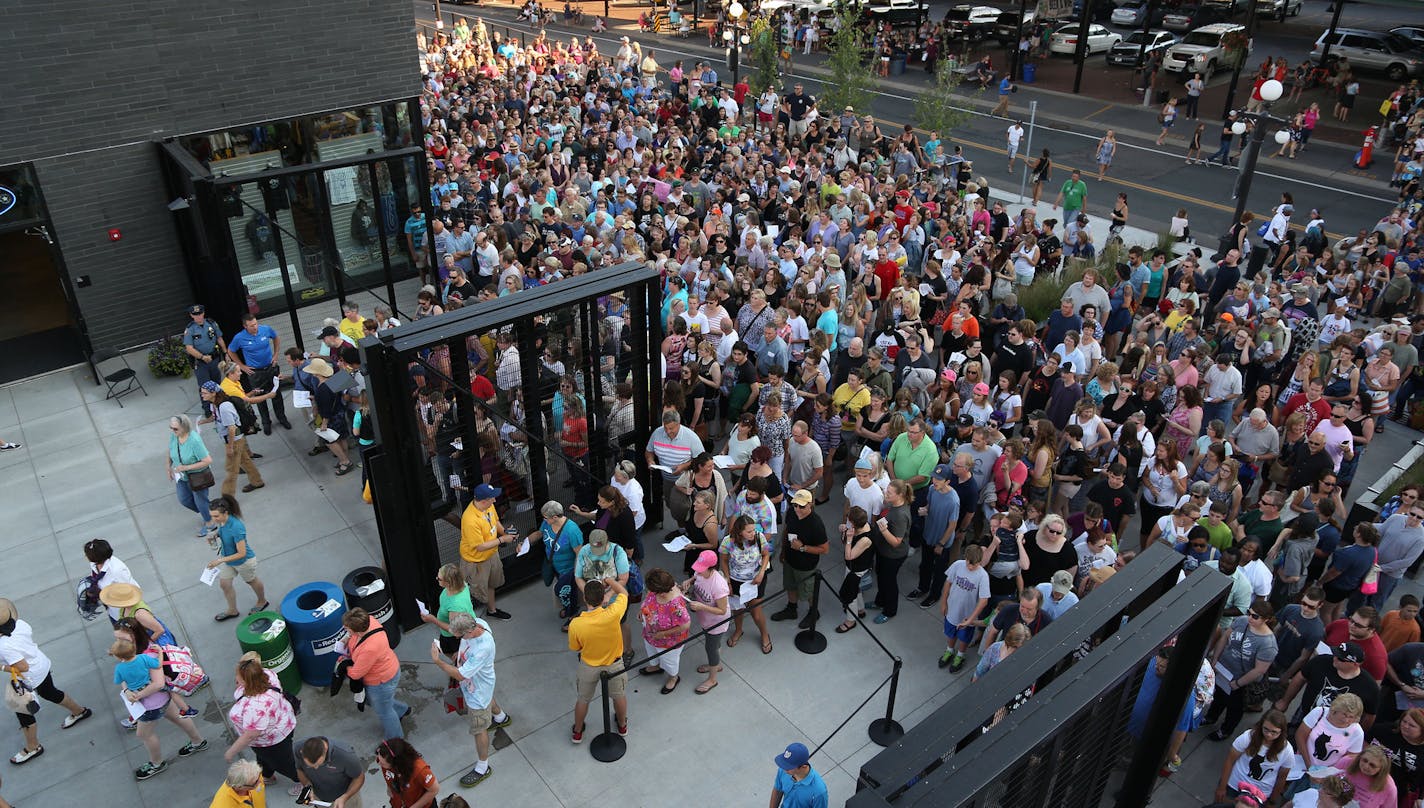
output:
M282 772L293 784L288 794L299 795L302 782L292 751L296 713L282 693L282 684L262 664L256 651L248 651L238 660L236 684L232 693L236 703L228 710L228 720L238 737L222 757L232 761L242 750L252 747L252 754L262 767L262 777L271 781L273 772Z

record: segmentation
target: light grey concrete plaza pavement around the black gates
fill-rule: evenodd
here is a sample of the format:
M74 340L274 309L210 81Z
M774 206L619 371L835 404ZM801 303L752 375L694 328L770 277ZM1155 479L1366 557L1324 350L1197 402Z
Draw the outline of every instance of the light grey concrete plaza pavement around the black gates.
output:
M58 687L94 710L93 720L63 731L60 708L40 711L47 754L0 770L0 794L17 805L80 805L95 794L114 805L206 805L225 771L222 750L232 740L225 717L239 654L235 624L212 621L222 607L221 594L198 581L211 551L194 537L197 519L177 504L164 475L167 419L195 409L195 386L192 380L154 379L141 368L141 356L131 361L150 395L128 396L124 408L104 400L103 388L93 385L87 369L0 388L0 437L24 443L0 455L0 513L6 514L0 596L14 600L34 627L40 647L54 660ZM1398 425L1388 429L1388 440L1366 455L1357 492L1418 437ZM216 447L211 433L205 439L209 449ZM273 603L300 583L340 581L352 569L379 564L382 557L372 512L359 496L359 477L337 479L329 457L308 457L309 440L300 429L252 439L265 455L259 467L268 485L241 500ZM820 513L827 522L839 519L839 496ZM118 725L124 710L111 684L112 661L105 657L108 623L84 623L74 610L74 586L87 573L81 547L94 537L114 544L150 606L194 648L214 681L192 698L201 711L198 727L214 747L177 760L181 735L161 724L171 768L145 782L132 777L145 760L142 747ZM648 566L675 567L676 560L655 542L649 546ZM833 559L827 577L839 581L842 564L839 556ZM907 566L911 570L904 574L913 577L914 563ZM1401 591L1417 593L1420 587L1407 580ZM662 677L634 677L628 754L601 764L588 754L588 738L584 747L568 740L575 658L567 651L548 593L528 584L501 597L500 604L514 618L493 627L497 695L514 724L497 734L496 775L473 791L456 782L473 764L474 748L463 721L447 715L440 703L444 677L429 663L434 631L420 628L399 647L402 697L414 705L407 737L430 761L443 792L460 791L474 804L550 807L597 799L619 805L760 805L775 772L772 755L793 740L815 748L890 673L890 660L870 637L832 633L834 617L823 618L829 648L817 657L796 650L786 623L772 624L775 651L763 656L755 628L748 626L743 643L725 651L721 685L706 695L693 694L699 681L693 668L703 663L698 643L684 654L688 681L675 693L658 694ZM241 584L239 606L252 606L251 591ZM906 727L968 687L967 673L951 675L934 664L943 636L933 610L907 603L897 618L874 631L906 660L896 707ZM372 760L380 740L375 717L357 713L347 695L328 698L323 693L303 690L298 740L323 734L355 745L367 762L365 804L383 805ZM884 705L883 693L871 698L813 758L833 804L850 797L856 771L879 751L866 727ZM588 730L590 737L598 732L597 710ZM0 750L9 755L20 745L11 724ZM1199 805L1209 797L1223 747L1203 742L1198 734L1186 751L1185 768L1162 785L1155 804ZM269 794L272 805L286 804L286 785L279 779Z

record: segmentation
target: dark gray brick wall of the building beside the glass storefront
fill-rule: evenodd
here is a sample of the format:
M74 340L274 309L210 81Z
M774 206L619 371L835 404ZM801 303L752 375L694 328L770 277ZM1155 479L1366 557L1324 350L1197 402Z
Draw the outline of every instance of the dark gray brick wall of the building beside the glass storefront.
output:
M93 279L95 345L157 338L191 296L154 141L420 91L399 0L17 0L3 19L0 164L36 164L70 276Z

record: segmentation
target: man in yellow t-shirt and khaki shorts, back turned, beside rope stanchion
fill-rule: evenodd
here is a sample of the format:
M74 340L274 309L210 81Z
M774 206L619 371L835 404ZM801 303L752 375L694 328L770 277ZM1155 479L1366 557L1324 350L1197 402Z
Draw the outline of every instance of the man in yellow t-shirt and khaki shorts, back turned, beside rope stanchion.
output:
M628 613L628 590L618 579L592 580L584 584L584 613L568 624L568 648L578 651L575 744L584 740L584 717L588 715L588 703L597 698L601 674L622 670L622 620ZM614 700L619 735L628 734L628 698L624 695L627 684L627 673L608 680L608 695Z

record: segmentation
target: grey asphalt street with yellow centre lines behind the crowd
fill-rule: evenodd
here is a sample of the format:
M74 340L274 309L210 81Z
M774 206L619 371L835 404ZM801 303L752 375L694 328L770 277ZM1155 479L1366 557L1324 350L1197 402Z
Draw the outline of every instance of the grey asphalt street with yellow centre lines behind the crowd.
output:
M943 16L943 7L947 6L947 3L931 4L931 16L936 13ZM416 3L419 23L427 26L433 23L434 17L430 9L429 3ZM508 24L511 30L517 29L511 24L514 9L503 3L460 7L446 4L443 10L466 17L481 16L490 24ZM1349 21L1351 14L1376 14L1376 11L1380 11L1377 17L1407 17L1397 9L1351 3L1346 7L1344 21ZM1270 43L1276 41L1270 37L1279 37L1282 43L1297 43L1297 50L1304 47L1304 50L1299 50L1303 56L1314 36L1323 30L1323 26L1316 29L1316 20L1321 16L1326 17L1324 24L1329 24L1324 3L1307 0L1302 16L1292 19L1284 26L1274 21L1263 23L1255 53L1262 53L1263 47L1270 47ZM1403 21L1390 24L1403 24ZM1272 31L1273 26L1276 33ZM527 29L524 30L527 31ZM1310 30L1316 33L1306 33ZM574 33L588 34L587 27L575 31L555 23L548 29L551 37L567 38ZM632 30L611 27L607 34L594 38L600 43L601 50L611 53L624 34L639 40L645 48L655 48L658 60L665 64L678 58L689 63L693 60L721 61L722 58L719 51L705 46L705 37L682 40L642 36L635 26ZM1279 53L1292 60L1296 58L1284 50L1284 46ZM816 94L820 90L822 80L813 73L815 68L803 70L797 66L795 71L796 80L803 81L809 93ZM923 83L923 70L911 70L896 81L883 81L873 104L877 121L883 127L910 123L916 84ZM1027 105L1018 101L1025 101L1030 95L1038 94L1025 93L1015 97L1011 111L1024 120L1025 127L1030 123L1030 113ZM948 140L964 147L967 157L975 164L975 172L987 177L991 187L1017 191L1024 177L1022 161L1015 165L1014 174L1008 172L1004 131L1010 121L990 118L985 111L991 104L993 98L988 97L967 100L967 105L974 110L974 114ZM1183 161L1186 135L1190 134L1192 128L1186 125L1189 121L1179 121L1173 137L1162 147L1156 147L1153 144L1155 133L1141 131L1152 127L1151 114L1132 105L1102 104L1092 98L1054 94L1041 97L1040 111L1045 120L1040 120L1032 127L1031 141L1025 144L1021 154L1037 155L1042 148L1048 148L1054 157L1054 182L1044 190L1044 200L1040 205L1041 218L1052 215L1049 205L1057 194L1057 187L1068 178L1068 170L1081 168L1088 182L1088 207L1094 214L1106 215L1116 194L1126 192L1131 208L1129 221L1136 227L1165 231L1178 209L1185 208L1198 242L1215 245L1216 237L1226 231L1235 209L1233 188L1239 172L1216 165L1188 165ZM1216 148L1219 130L1213 121L1203 118L1203 123L1208 124L1203 145L1210 154ZM1098 138L1108 127L1118 128L1119 145L1106 178L1098 181L1094 151ZM1320 208L1326 218L1327 231L1340 237L1353 235L1360 228L1373 225L1394 201L1393 190L1381 181L1381 177L1386 180L1388 177L1388 167L1381 162L1376 162L1371 171L1351 170L1349 168L1349 155L1341 148L1326 145L1307 150L1299 161L1265 157L1274 150L1276 145L1267 135L1249 195L1249 207L1257 215L1269 214L1270 208L1280 201L1282 192L1289 192L1302 211L1302 217L1313 207ZM1314 165L1314 162L1321 162L1324 167ZM1304 221L1302 217L1297 217L1300 224Z

